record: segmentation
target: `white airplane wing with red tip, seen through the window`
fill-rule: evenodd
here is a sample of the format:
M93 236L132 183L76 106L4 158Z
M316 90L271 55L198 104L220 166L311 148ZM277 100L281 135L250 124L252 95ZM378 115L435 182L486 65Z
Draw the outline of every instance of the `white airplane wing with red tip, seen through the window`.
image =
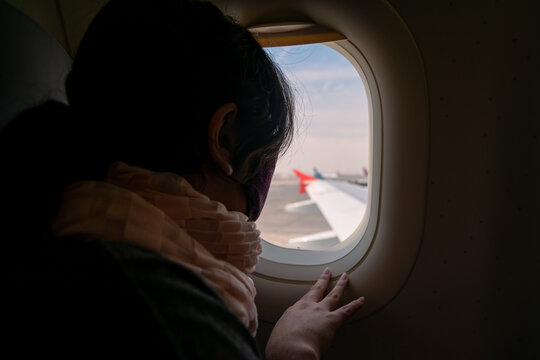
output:
M332 230L289 240L289 244L302 249L324 249L346 240L360 224L367 203L367 189L339 180L319 179L293 170L300 180L299 191L307 193L310 200L285 206L296 213L320 211Z

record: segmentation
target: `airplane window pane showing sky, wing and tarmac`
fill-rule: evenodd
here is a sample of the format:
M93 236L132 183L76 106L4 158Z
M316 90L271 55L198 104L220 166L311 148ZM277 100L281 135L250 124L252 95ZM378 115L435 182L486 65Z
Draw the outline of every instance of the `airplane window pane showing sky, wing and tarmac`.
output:
M366 88L355 66L329 46L266 51L295 91L297 134L278 161L258 227L280 247L329 249L347 240L366 211Z

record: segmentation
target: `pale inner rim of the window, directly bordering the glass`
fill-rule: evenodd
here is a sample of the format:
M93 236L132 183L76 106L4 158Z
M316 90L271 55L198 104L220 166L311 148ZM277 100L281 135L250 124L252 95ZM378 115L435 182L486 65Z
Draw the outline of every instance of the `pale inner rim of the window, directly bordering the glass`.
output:
M280 29L283 25L276 25ZM290 26L290 24L287 24ZM270 28L268 25L266 28ZM318 28L319 31L321 28ZM324 28L323 28L324 29ZM374 239L378 217L378 199L380 198L382 129L380 97L367 61L361 52L348 40L336 32L326 30L328 34L336 34L339 40L321 43L337 51L345 57L356 69L366 89L369 109L369 173L368 173L368 201L366 212L354 233L344 242L325 250L304 250L280 247L270 242L263 241L263 252L257 265L254 276L275 278L293 281L313 281L332 264L332 270L336 273L349 271L358 265L358 259L363 259L369 251ZM298 38L298 36L296 36ZM324 39L328 36L323 37ZM310 37L310 43L314 43L316 37ZM281 44L282 42L275 42ZM286 42L290 44L291 41ZM373 201L376 199L376 201ZM264 234L263 234L264 235ZM279 264L280 266L276 266ZM298 268L301 266L301 270Z

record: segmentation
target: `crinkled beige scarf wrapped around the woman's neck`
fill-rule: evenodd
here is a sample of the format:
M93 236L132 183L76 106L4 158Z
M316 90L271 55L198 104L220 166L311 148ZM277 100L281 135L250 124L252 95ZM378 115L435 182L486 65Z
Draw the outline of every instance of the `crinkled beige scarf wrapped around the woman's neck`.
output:
M137 245L190 268L255 334L255 287L247 274L261 252L260 231L184 178L116 163L106 182L66 188L52 230Z

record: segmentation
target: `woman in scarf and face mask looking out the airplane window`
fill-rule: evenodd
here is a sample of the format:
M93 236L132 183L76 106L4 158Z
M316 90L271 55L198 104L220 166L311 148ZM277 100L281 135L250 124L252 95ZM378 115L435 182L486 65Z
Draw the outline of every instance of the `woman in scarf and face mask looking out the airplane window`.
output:
M279 69L209 3L112 0L66 92L69 106L30 109L0 140L11 343L57 357L260 358L254 221L293 133ZM325 297L330 277L285 312L268 359L319 358L362 306L336 309L347 278Z

